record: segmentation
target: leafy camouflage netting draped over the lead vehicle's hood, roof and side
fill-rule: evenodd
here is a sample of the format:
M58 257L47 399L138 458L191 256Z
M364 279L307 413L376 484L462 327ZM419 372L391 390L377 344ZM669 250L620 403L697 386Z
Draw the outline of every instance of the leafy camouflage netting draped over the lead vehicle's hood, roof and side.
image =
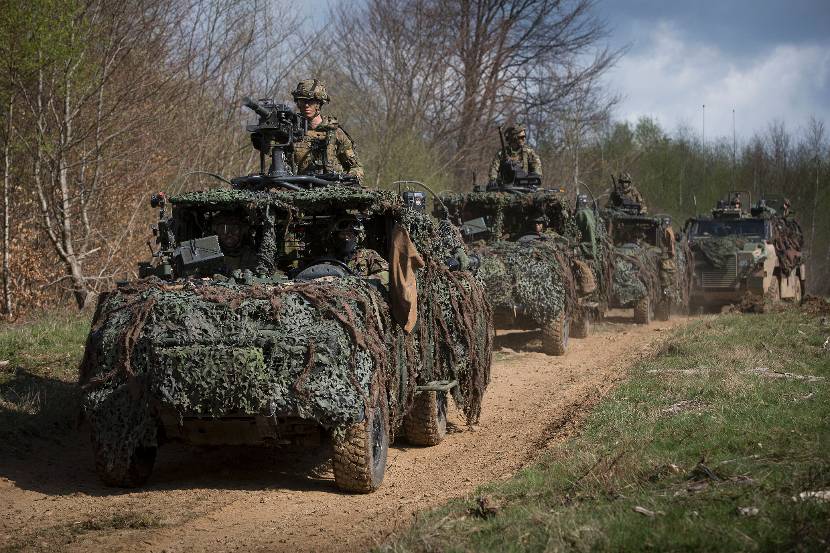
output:
M345 187L295 194L216 190L172 202L274 205L299 213L337 206L389 215L407 228L425 261L417 273L418 324L406 334L393 322L385 295L357 277L255 285L151 277L102 294L80 383L97 446L110 465L156 444L159 407L179 417L298 416L341 432L362 420L369 387L382 385L394 430L415 384L457 380L455 401L470 423L478 420L493 328L480 283L443 263L463 252L452 225L404 209L391 192ZM403 384L407 393L399 401Z

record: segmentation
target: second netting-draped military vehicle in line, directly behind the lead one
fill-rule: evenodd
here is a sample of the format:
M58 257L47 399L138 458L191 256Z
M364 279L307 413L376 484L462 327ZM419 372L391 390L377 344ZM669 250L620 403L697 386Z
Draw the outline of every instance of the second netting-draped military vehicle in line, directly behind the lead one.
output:
M601 311L597 278L579 253L579 230L560 190L495 186L443 193L435 206L461 226L502 328L541 329L543 350L563 355ZM604 287L603 287L604 288Z

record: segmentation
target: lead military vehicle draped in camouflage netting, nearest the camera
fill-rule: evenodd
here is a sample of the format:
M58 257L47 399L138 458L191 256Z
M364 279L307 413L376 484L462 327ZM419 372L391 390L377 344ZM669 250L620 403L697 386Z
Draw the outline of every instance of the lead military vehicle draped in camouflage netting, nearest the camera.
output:
M142 484L168 441L330 440L335 484L370 492L396 435L441 441L449 397L479 417L493 328L458 230L411 194L264 165L232 188L154 197L152 263L99 299L80 383L107 484ZM384 270L337 256L344 220Z

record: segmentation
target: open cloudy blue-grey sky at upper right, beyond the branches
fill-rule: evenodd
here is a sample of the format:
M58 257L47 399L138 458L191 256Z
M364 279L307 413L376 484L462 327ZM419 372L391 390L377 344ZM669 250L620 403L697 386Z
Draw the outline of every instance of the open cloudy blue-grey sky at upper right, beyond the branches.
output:
M597 0L608 43L627 52L606 76L618 119L650 116L706 140L830 125L830 0Z

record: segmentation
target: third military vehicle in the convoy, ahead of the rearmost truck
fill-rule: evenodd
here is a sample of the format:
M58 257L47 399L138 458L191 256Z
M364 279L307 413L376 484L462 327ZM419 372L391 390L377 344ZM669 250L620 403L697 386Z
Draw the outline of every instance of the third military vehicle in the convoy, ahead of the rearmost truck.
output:
M640 213L634 204L606 211L614 244L611 306L633 308L634 322L666 321L689 305L688 243L676 240L670 218Z

